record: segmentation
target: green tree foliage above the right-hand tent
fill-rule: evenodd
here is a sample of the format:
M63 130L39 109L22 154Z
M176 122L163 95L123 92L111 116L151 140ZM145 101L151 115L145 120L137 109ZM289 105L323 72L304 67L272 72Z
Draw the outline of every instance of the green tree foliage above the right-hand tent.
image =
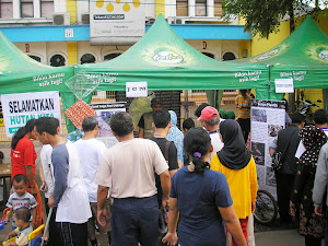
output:
M294 16L316 13L327 8L327 0L224 0L224 14L238 14L245 19L245 32L253 36L269 37L277 32L280 22L289 16L290 30L294 31Z

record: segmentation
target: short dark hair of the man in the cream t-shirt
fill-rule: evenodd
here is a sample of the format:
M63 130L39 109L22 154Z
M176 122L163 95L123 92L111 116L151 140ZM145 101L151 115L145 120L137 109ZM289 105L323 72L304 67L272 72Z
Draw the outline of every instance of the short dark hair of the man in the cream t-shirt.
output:
M118 137L125 137L133 131L133 121L130 114L118 112L110 117L109 127Z

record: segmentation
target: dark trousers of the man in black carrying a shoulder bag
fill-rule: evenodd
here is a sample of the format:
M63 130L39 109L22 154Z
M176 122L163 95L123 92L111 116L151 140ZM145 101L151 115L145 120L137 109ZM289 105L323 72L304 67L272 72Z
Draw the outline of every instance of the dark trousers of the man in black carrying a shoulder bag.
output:
M292 221L290 215L290 200L293 192L294 179L295 175L283 174L281 171L276 172L279 215L282 223L290 223Z

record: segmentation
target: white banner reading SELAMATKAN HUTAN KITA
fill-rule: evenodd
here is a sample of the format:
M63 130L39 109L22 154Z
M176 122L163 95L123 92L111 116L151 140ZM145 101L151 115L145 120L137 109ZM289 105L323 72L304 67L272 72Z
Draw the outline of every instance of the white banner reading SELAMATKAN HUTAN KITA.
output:
M30 119L55 117L61 121L58 92L1 95L5 134L11 138Z

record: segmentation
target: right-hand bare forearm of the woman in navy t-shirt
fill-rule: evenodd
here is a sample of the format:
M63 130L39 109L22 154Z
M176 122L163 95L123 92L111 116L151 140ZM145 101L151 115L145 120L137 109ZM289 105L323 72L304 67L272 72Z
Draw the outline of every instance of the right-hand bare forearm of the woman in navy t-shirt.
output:
M219 208L222 219L224 220L225 226L234 239L239 246L247 246L246 239L244 237L242 226L234 207Z

